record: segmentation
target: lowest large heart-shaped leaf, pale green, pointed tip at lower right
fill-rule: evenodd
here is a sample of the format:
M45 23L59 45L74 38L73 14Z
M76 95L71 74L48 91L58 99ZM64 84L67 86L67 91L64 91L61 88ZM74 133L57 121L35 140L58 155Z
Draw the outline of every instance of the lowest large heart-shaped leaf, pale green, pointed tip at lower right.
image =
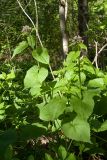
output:
M62 124L62 131L70 139L90 142L89 123L80 117L76 117L73 121Z

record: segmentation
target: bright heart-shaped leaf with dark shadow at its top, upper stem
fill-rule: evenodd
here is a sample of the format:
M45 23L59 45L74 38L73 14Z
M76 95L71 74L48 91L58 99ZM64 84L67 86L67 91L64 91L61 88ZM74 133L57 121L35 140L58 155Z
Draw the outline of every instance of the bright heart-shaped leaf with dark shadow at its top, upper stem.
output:
M32 52L32 56L38 62L49 64L49 55L46 48L37 48Z

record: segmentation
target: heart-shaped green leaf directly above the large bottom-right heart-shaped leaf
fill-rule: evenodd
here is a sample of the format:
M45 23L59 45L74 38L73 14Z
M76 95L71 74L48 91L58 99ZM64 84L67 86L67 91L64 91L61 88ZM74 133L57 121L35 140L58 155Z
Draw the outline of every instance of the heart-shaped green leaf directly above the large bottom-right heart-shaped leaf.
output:
M71 106L73 110L83 119L88 119L93 112L94 100L90 92L83 93L83 99L79 97L71 97Z

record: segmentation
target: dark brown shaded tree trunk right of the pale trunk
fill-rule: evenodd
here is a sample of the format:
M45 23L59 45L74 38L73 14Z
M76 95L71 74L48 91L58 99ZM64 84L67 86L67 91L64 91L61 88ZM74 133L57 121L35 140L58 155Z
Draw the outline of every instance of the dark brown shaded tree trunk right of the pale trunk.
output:
M88 0L78 0L78 27L79 35L82 37L84 44L88 47Z

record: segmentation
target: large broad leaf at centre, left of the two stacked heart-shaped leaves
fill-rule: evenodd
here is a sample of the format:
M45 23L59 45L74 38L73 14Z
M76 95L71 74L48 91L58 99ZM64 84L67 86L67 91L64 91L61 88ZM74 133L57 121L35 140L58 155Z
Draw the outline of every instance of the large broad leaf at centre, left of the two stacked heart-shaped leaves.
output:
M55 97L49 101L44 107L40 109L40 119L44 121L54 121L61 114L63 114L66 108L66 98L65 97Z

